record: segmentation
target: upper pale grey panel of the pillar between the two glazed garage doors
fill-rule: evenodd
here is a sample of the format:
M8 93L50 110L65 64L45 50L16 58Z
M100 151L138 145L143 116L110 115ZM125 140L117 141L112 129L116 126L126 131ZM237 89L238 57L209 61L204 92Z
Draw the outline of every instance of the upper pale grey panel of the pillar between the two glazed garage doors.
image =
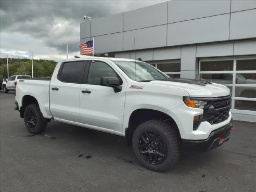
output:
M181 71L196 69L196 45L183 46L181 52Z

